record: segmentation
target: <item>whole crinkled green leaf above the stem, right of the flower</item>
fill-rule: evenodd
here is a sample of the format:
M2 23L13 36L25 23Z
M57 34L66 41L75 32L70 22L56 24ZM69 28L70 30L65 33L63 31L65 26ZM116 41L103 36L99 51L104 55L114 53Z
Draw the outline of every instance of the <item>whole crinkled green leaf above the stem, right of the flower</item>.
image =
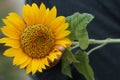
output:
M78 12L66 18L67 22L70 24L68 29L71 31L71 34L69 35L69 38L72 41L78 40L80 48L83 50L85 50L89 44L86 26L92 21L92 19L93 16L91 14L80 14Z

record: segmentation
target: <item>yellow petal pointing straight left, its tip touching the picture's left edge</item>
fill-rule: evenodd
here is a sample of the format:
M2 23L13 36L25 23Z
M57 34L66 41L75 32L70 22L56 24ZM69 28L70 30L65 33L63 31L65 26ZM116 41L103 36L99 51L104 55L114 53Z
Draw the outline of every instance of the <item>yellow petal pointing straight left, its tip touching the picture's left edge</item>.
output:
M20 42L11 38L1 38L0 43L5 43L5 46L11 46L13 48L19 48Z

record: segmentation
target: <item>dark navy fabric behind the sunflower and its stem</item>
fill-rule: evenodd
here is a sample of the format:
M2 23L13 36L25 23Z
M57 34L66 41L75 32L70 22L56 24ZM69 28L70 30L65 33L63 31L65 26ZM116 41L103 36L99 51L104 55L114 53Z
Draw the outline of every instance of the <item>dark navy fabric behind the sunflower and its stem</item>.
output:
M43 2L48 7L55 5L58 15L68 16L74 12L90 13L95 16L87 27L90 38L120 38L120 0L27 0L29 4L33 2L38 5ZM120 80L119 48L120 44L108 44L89 56L95 80ZM48 70L36 74L35 77L38 77L38 80L54 80L56 77L59 77L56 80L84 80L74 69L73 79L60 75L59 64L54 69L56 72Z

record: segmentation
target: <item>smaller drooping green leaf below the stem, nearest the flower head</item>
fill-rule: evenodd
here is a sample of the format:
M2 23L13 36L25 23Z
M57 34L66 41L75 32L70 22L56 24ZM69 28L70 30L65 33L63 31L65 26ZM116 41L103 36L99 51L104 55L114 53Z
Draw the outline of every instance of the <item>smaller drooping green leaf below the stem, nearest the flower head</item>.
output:
M62 56L62 73L72 77L71 75L71 63L79 63L79 61L75 58L72 52L69 49L66 49L63 56Z

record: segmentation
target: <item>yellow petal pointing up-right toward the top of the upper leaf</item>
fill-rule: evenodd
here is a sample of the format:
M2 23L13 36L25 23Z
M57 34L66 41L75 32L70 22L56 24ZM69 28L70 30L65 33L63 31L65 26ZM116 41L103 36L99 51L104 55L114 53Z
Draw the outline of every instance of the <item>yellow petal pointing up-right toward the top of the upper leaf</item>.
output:
M51 22L50 27L54 31L58 27L60 27L61 24L63 24L63 23L65 23L65 17L64 16L59 16L54 21Z

